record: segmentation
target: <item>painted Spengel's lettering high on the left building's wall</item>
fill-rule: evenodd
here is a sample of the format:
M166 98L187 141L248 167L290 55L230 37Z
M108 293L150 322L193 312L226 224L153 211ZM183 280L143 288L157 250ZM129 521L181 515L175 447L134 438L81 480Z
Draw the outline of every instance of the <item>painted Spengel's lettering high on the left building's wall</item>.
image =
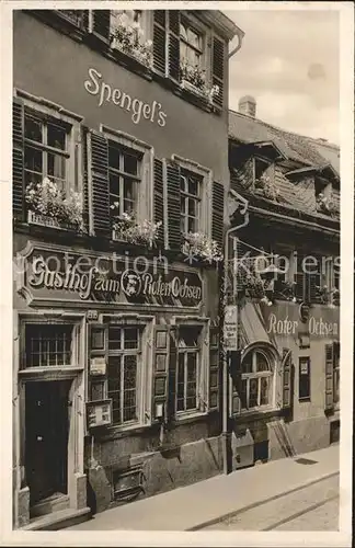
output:
M88 93L98 98L99 106L102 106L104 102L112 102L119 109L129 112L134 124L139 124L141 119L152 124L157 123L161 127L167 124L167 114L163 112L161 103L158 101L146 103L140 99L133 98L129 93L105 82L102 73L94 68L89 69L89 78L84 81L84 88Z

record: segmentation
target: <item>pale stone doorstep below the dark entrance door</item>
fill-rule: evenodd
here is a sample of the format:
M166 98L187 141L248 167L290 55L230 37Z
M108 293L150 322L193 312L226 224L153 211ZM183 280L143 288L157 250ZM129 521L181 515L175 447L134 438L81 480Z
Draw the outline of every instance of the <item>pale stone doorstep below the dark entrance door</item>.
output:
M57 512L31 520L28 525L21 527L19 530L59 530L65 527L78 525L90 517L91 510L89 506L80 510L58 510Z

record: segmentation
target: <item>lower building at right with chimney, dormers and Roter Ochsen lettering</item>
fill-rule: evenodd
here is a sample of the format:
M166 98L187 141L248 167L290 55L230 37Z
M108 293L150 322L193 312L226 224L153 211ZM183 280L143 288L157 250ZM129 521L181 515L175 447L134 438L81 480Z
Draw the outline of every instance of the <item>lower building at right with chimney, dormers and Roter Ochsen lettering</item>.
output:
M247 96L229 114L229 209L240 196L249 203L230 219L245 225L233 233L234 290L228 276L241 351L230 380L233 468L325 447L340 431L340 151L255 113Z

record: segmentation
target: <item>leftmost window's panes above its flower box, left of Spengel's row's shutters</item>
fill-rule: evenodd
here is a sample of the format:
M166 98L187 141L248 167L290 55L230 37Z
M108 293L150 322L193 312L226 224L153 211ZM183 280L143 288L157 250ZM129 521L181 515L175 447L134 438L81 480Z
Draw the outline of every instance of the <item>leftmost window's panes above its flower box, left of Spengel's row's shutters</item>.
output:
M68 126L44 118L38 113L24 113L25 184L39 183L44 178L67 191L69 160Z

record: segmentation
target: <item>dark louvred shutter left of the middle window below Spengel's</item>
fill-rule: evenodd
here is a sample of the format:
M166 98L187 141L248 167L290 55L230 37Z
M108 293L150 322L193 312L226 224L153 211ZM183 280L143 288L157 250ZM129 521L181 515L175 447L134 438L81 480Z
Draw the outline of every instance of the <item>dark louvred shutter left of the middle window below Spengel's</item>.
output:
M89 157L89 201L90 232L108 237L110 220L110 183L108 183L108 144L101 134L88 134Z

